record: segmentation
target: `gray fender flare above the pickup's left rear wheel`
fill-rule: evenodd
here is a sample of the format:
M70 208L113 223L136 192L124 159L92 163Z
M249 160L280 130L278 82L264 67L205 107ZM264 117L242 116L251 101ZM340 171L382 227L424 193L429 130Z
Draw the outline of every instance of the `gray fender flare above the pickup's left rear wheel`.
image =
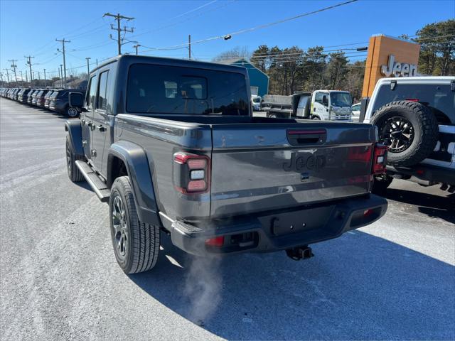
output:
M154 172L153 161L149 161L146 152L141 146L130 141L115 142L110 146L107 154L108 188L112 186L115 180L112 163L116 157L122 160L127 168L139 220L146 224L161 226L152 180Z

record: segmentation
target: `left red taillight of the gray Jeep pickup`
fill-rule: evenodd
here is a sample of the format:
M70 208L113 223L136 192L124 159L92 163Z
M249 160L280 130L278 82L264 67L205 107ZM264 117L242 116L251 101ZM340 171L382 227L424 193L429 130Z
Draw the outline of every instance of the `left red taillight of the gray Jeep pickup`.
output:
M173 183L180 193L198 194L210 188L210 158L191 153L173 155Z

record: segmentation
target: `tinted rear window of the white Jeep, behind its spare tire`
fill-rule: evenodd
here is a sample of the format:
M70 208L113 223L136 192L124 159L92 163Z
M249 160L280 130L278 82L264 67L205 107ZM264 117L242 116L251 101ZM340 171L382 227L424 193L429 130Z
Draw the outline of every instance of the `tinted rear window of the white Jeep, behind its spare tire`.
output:
M382 105L412 99L426 105L441 123L455 122L455 92L451 92L450 85L430 84L397 84L395 90L390 85L382 85L373 104L373 112Z

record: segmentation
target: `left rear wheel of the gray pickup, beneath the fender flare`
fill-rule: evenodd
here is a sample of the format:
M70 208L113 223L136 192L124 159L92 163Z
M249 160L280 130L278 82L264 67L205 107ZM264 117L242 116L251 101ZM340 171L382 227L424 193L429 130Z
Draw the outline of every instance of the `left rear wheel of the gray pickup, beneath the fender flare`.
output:
M160 229L139 221L129 177L115 179L109 198L112 246L126 274L152 269L158 260Z

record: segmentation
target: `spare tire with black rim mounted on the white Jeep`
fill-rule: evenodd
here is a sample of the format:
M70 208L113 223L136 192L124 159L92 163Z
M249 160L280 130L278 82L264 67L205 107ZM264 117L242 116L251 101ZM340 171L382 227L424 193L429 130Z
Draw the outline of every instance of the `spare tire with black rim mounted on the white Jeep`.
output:
M387 164L412 166L434 150L439 127L434 114L423 104L397 101L375 112L371 123L378 126L379 141L387 149Z

